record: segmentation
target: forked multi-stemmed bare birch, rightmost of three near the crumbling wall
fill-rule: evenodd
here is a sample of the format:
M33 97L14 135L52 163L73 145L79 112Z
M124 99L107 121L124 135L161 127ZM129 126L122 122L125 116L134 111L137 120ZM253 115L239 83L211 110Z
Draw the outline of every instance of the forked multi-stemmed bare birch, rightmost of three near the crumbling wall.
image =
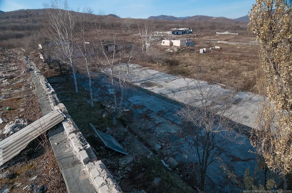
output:
M91 14L91 17L93 28L97 34L92 40L95 50L97 50L93 61L96 64L96 70L107 76L112 85L109 94L112 94L114 100L112 122L115 125L116 116L121 112L127 79L131 72L139 67L131 63L135 56L134 45L132 42L124 42L117 38L114 22L111 21L109 24L112 29L111 37L105 40L100 25L95 22L95 16ZM118 93L120 93L119 96Z

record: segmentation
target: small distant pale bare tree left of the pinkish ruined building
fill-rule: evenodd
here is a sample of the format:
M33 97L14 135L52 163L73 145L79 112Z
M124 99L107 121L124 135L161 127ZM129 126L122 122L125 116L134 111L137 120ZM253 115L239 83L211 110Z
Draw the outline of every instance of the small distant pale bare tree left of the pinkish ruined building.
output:
M148 22L145 22L139 27L140 44L142 53L146 53L154 45L154 38L152 37L152 31L149 28Z

